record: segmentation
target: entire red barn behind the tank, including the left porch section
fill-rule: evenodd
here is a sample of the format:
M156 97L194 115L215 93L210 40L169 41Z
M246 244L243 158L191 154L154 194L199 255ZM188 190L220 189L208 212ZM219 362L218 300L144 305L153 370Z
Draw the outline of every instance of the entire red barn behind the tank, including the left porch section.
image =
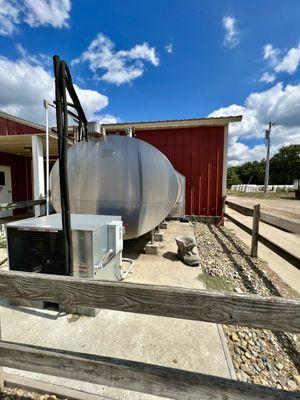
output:
M226 194L228 125L241 116L104 124L106 134L152 144L186 179L187 215L220 217ZM71 135L72 136L72 135ZM69 145L73 139L70 138ZM0 112L0 203L45 195L45 128ZM57 135L50 133L50 157L57 157ZM4 214L5 213L5 214ZM0 212L0 216L11 212Z

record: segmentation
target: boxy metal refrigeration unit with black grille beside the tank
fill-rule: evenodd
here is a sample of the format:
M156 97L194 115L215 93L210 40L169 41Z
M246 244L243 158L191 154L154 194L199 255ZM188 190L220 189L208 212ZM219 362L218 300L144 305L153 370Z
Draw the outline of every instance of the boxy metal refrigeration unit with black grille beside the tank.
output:
M13 271L120 280L123 223L120 216L72 214L72 259L65 268L61 214L7 224L9 268ZM127 261L127 259L125 259Z

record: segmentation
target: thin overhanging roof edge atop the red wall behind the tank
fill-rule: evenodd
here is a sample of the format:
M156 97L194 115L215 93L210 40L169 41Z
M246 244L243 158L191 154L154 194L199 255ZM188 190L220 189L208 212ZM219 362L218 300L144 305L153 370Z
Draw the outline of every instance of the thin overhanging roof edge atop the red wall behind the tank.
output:
M168 129L168 128L192 128L197 126L225 126L231 122L239 122L243 118L242 115L228 117L212 117L212 118L193 118L181 120L165 120L165 121L145 121L145 122L124 122L116 124L102 124L105 131L109 132L115 129L125 130L134 127L136 130L151 129Z

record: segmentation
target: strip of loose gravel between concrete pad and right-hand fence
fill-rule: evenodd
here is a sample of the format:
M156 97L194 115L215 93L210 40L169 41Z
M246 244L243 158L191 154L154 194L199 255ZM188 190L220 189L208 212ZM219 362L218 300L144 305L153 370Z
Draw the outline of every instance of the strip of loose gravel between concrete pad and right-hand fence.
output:
M228 229L194 223L209 288L295 298L299 295ZM237 378L286 390L300 389L300 335L223 325Z

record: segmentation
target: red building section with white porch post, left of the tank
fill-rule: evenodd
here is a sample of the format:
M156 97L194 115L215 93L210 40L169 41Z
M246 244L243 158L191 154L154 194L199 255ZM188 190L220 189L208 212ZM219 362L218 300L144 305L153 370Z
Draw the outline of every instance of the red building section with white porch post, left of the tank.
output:
M44 126L0 112L0 203L38 199L45 195L44 149ZM56 159L57 135L54 131L50 133L49 150L50 156ZM24 213L24 210L14 213ZM0 217L10 215L11 210L0 211Z

